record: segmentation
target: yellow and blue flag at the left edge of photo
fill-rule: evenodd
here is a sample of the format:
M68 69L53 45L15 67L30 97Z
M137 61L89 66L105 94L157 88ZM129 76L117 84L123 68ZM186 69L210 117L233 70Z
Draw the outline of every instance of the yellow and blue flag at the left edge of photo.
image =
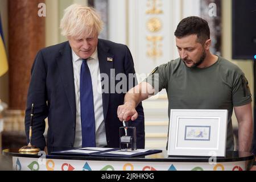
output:
M5 44L3 42L3 30L0 15L0 76L8 71L7 56L5 52Z

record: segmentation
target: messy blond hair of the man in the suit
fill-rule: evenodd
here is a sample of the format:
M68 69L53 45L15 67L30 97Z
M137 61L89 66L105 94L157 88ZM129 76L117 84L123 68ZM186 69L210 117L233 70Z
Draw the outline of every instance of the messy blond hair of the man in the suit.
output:
M92 7L73 4L64 10L60 21L61 35L82 38L83 35L99 35L102 30L100 15Z

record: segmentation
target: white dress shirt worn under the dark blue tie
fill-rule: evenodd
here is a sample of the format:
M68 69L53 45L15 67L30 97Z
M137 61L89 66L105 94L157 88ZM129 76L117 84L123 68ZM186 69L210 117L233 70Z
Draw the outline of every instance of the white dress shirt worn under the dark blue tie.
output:
M82 129L81 129L81 114L80 114L80 71L82 59L76 55L72 50L72 62L74 71L75 96L76 96L76 134L74 147L82 146ZM95 135L96 147L104 147L106 142L105 122L102 106L102 88L100 66L98 63L98 51L94 51L92 56L87 59L87 64L90 69L90 76L92 77L93 88L93 104L94 104L94 118L95 118Z

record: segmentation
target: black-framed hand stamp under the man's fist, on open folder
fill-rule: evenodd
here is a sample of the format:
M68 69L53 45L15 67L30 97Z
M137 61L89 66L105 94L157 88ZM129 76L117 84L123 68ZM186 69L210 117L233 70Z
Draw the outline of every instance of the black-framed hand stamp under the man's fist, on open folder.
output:
M136 150L136 127L119 127L120 150Z

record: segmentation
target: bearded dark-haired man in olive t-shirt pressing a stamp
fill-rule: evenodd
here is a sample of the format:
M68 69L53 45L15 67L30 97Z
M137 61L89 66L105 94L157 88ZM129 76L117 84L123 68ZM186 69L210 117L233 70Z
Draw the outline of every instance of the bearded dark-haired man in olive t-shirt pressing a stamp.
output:
M120 121L138 117L141 101L166 89L170 109L227 109L226 150L234 150L233 108L238 121L238 150L251 150L253 117L251 94L244 73L237 65L210 53L208 23L197 16L181 20L175 31L180 58L156 67L135 86L118 107ZM146 92L145 92L146 91ZM170 117L170 115L169 115Z

